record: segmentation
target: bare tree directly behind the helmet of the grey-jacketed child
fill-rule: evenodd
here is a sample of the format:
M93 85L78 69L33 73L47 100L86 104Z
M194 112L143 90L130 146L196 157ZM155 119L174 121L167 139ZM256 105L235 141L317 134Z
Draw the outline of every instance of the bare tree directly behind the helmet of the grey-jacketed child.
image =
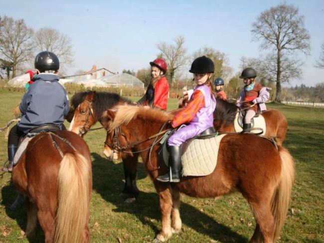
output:
M73 45L71 38L53 28L41 28L34 35L37 52L51 51L60 59L60 72L73 65Z

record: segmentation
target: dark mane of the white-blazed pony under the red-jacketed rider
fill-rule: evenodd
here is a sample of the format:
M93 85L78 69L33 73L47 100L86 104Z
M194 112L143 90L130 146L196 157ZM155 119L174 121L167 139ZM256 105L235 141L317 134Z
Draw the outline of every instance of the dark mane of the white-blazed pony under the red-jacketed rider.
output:
M81 104L85 100L87 95L90 95L94 92L95 91L83 91L74 94L71 99L71 106L73 107L73 109L76 109L79 104ZM95 110L97 116L101 116L104 111L110 109L120 101L128 104L131 103L131 100L116 93L96 92L93 100L93 109Z

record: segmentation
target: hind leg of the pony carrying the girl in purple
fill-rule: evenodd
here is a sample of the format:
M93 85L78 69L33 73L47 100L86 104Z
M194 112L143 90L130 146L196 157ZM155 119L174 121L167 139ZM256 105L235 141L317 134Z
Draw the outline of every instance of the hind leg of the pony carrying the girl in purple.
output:
M256 228L250 243L273 243L275 220L271 213L270 200L251 203Z

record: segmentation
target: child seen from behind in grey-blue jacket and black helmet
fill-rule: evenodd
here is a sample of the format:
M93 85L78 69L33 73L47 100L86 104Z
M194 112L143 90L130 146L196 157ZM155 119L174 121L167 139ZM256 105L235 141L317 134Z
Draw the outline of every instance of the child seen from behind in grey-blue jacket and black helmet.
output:
M69 111L69 101L64 87L58 83L59 67L59 59L50 51L42 51L35 57L35 68L39 74L34 77L34 83L20 102L21 120L9 132L8 171L12 171L12 162L20 137L26 135L30 129L44 124L64 128L64 116ZM15 203L10 209L15 210L19 207L21 200Z

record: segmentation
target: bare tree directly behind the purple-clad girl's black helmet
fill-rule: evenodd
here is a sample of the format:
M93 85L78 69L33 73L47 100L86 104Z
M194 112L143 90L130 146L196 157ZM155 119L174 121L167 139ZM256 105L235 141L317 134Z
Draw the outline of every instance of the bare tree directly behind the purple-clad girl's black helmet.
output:
M229 66L229 59L225 55L225 53L215 50L211 47L203 47L199 50L195 51L192 56L193 59L199 56L207 56L209 57L215 65L215 70L213 74L213 78L222 77L223 79L228 79L231 75L232 69Z

